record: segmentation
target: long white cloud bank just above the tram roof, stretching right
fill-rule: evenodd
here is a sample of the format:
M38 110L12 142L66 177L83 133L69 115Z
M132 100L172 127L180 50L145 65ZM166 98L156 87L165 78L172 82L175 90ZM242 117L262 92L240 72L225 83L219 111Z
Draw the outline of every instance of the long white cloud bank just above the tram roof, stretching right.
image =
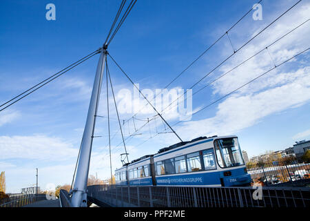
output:
M191 139L198 135L230 135L253 126L263 117L304 104L310 99L309 67L293 73L273 76L270 82L282 85L259 93L232 95L218 104L214 117L185 122L178 128L181 137ZM285 83L285 84L284 84ZM271 84L271 83L270 83ZM190 136L188 131L191 131Z

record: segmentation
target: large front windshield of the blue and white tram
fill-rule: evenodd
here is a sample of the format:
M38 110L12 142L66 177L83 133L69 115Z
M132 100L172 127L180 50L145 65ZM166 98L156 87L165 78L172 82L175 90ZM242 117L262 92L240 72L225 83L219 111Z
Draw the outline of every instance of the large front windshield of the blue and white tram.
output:
M214 141L218 164L222 168L245 164L238 138L223 138Z

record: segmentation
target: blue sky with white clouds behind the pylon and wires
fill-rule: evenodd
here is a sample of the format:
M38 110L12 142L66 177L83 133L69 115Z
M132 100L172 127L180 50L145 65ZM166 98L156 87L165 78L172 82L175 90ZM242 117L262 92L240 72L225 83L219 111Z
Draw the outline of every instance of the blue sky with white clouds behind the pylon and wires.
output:
M234 48L251 39L297 1L262 1L262 21L254 21L252 12L230 32ZM45 19L45 6L54 3L56 21ZM163 88L201 52L238 21L256 1L137 1L121 30L109 46L110 54L141 89ZM1 104L45 77L102 46L116 15L119 1L1 1L0 7L0 101ZM255 52L265 48L309 19L309 1L301 1L254 41L227 60L201 81L193 92L233 68ZM309 22L269 48L276 64L309 48ZM226 57L232 48L223 37L169 89L187 89ZM21 102L0 113L0 171L6 171L8 192L35 183L39 168L39 186L68 184L83 133L87 107L99 56L85 61L56 81L37 90ZM133 90L112 61L108 61L114 90ZM222 97L250 79L272 68L267 52L240 66L193 97L193 109ZM309 53L271 71L175 127L183 140L200 135L238 135L241 148L250 156L268 150L287 148L297 140L310 139ZM99 113L106 115L105 84ZM118 97L118 102L120 102ZM112 97L110 97L110 101ZM110 103L112 118L116 113ZM140 109L143 106L138 106ZM139 114L146 119L154 113ZM131 117L121 113L121 119ZM165 115L168 122L177 115ZM112 119L112 134L118 130ZM137 127L143 124L136 121ZM127 143L130 160L156 153L159 148L178 142L172 133L158 135L163 124L150 124L143 135ZM133 131L133 122L125 124ZM90 174L101 179L110 175L107 148L107 121L97 120ZM113 169L121 165L123 153L120 135L112 140Z

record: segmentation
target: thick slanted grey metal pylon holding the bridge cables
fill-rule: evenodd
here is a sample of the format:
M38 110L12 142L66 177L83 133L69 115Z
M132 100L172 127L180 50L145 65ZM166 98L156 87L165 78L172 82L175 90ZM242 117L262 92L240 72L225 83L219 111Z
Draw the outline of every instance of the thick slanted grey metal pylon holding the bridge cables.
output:
M81 153L76 170L74 188L72 189L71 204L74 207L87 206L87 178L90 168L90 155L92 152L92 140L94 137L94 126L101 92L103 70L105 68L105 57L107 57L107 50L102 48L96 70L96 77L94 79L94 86L92 88L92 97L90 98L90 106L88 108L87 120L83 133Z

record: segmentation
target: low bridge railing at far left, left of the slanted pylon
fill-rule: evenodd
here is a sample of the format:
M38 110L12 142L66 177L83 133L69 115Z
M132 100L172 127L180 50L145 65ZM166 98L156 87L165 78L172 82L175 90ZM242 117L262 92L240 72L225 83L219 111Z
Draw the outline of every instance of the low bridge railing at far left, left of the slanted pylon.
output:
M9 198L0 200L0 207L21 207L40 200L46 200L45 194L12 194Z

